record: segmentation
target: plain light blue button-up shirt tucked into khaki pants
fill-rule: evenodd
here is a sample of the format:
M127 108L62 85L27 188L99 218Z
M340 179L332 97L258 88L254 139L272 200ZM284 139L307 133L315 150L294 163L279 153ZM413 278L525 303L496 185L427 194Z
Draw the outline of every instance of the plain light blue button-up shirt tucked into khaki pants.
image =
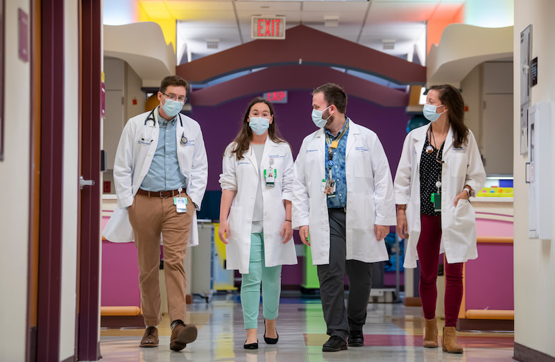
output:
M171 121L166 121L158 111L158 144L152 159L151 168L144 177L141 189L146 191L170 191L180 187L185 189L187 178L179 169L176 126L179 114Z

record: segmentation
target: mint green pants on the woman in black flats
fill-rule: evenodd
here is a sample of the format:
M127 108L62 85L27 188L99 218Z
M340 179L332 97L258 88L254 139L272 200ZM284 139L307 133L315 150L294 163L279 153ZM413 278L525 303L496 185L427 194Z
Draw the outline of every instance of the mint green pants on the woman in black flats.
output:
M282 289L282 266L264 266L264 234L250 234L250 262L248 274L241 275L241 307L245 329L258 327L260 282L262 282L262 307L264 318L278 318Z

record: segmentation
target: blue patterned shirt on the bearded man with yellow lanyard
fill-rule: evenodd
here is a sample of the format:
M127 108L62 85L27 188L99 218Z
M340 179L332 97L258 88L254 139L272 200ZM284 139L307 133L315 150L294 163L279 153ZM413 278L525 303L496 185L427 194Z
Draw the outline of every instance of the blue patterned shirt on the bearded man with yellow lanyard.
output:
M346 118L343 128L334 137L330 130L324 128L326 135L330 137L333 141L343 129L348 125L349 119ZM335 197L327 198L327 207L345 207L347 206L347 176L345 175L345 150L347 149L347 136L349 135L349 129L345 131L345 135L339 140L339 145L337 148L333 149L332 160L334 162L332 166L332 178L335 180ZM324 137L325 139L326 137ZM325 141L326 142L326 141ZM329 145L325 144L325 178L328 178L328 168L327 168L327 152Z

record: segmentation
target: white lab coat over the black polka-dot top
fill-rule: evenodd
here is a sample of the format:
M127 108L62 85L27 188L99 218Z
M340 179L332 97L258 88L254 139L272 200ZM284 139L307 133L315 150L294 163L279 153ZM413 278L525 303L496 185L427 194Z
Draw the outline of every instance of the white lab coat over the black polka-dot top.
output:
M420 157L429 125L412 130L404 139L395 175L395 202L407 205L409 239L405 248L405 268L416 268L416 244L420 238ZM484 187L486 172L474 135L468 130L468 145L453 146L450 127L443 146L441 170L441 247L449 263L461 263L478 257L476 247L476 215L470 201L455 196L468 184L474 192Z

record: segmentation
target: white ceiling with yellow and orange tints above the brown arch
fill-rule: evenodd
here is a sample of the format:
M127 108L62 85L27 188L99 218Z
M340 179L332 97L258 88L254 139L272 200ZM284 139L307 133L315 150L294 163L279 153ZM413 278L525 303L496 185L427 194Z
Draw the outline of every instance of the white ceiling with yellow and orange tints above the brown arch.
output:
M432 18L452 21L465 1L139 0L139 3L153 19L178 19L178 64L185 54L191 61L252 41L253 15L282 15L286 18L286 28L303 24L409 60L416 53L425 64L427 21ZM328 16L338 16L339 26L325 27L324 17ZM207 40L218 40L218 49L207 49ZM395 48L383 49L382 40L395 40ZM321 44L321 49L322 55L337 51L326 44Z

